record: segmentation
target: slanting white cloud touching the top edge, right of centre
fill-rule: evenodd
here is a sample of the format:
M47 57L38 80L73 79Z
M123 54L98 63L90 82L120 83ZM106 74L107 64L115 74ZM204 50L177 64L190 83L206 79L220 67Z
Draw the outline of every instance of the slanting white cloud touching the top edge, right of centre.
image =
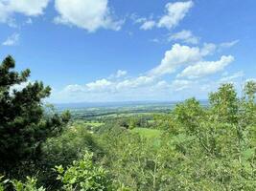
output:
M168 30L175 28L193 5L193 1L168 3L165 6L166 15L160 18L157 26L159 28L167 28Z

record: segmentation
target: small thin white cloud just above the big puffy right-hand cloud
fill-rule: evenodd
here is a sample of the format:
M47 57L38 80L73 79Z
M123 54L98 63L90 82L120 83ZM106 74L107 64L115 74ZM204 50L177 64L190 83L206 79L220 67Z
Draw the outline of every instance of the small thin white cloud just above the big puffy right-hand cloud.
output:
M181 40L189 44L198 44L199 42L199 38L197 36L193 35L192 32L186 31L186 30L183 30L181 32L176 32L169 37L169 41L177 41L177 40Z

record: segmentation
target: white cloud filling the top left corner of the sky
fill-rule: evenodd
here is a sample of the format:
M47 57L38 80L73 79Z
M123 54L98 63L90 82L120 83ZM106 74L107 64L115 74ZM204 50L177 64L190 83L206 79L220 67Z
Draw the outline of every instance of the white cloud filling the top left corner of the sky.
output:
M13 14L22 13L26 16L43 14L50 0L0 0L0 22L14 25Z

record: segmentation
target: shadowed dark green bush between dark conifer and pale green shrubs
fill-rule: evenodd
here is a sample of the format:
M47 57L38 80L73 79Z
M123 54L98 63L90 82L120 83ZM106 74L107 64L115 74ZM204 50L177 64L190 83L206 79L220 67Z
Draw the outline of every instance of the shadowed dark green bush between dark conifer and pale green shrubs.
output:
M88 151L93 152L94 159L97 160L103 155L96 138L88 133L84 126L70 124L60 136L48 138L42 144L41 159L37 163L37 169L41 172L39 182L47 188L50 185L51 189L57 189L60 184L56 181L57 173L52 168L58 164L66 167L74 160L81 159Z

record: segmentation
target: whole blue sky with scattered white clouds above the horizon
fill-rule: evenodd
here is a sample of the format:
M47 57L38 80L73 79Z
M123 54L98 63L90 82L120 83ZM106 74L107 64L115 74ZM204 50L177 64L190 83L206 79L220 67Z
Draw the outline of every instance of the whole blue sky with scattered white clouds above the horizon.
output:
M31 69L53 103L206 99L256 79L255 10L255 0L0 0L0 59Z

